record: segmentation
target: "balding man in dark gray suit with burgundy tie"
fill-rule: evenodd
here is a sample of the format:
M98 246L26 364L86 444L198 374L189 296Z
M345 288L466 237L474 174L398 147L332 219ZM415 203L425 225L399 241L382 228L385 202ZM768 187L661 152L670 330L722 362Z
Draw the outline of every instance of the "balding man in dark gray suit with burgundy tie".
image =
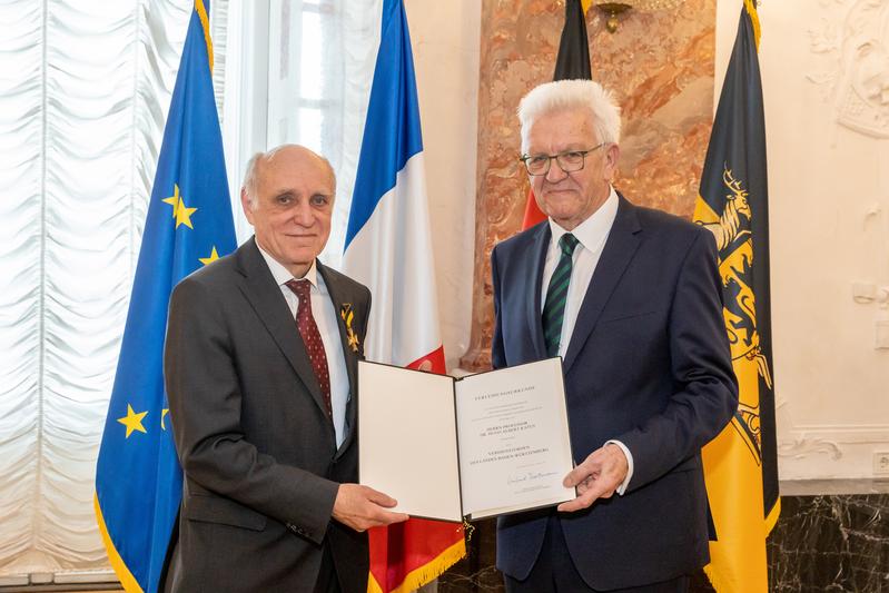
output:
M367 590L365 530L407 518L355 484L366 287L317 256L334 171L300 146L256 155L256 235L170 299L165 379L185 473L167 591Z

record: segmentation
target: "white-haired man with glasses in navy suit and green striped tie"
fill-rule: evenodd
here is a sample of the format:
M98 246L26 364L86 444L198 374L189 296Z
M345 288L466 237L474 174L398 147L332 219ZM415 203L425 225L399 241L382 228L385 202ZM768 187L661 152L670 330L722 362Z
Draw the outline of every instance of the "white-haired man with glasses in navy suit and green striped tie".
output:
M549 219L493 250L492 359L563 358L577 496L501 517L497 567L508 592L686 591L709 561L701 447L738 404L713 236L615 191L599 83L541 85L518 118Z

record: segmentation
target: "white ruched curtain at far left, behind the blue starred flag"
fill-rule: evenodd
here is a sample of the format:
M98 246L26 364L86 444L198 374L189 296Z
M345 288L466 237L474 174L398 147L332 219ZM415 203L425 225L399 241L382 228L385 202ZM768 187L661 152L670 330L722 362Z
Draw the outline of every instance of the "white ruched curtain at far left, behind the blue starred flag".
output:
M0 2L0 584L107 566L96 455L191 7Z

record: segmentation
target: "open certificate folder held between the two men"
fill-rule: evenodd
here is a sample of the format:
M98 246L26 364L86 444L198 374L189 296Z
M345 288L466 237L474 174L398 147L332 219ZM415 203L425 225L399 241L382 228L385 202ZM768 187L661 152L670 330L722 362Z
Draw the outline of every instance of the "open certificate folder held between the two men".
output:
M359 482L461 521L574 498L562 359L455 379L358 363Z

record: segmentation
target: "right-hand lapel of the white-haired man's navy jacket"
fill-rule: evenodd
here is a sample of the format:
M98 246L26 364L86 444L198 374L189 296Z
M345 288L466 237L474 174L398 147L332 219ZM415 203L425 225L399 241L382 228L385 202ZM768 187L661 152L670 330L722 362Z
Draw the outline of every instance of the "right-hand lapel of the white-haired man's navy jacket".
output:
M635 207L620 196L618 215L614 217L614 224L602 249L602 256L599 258L586 295L583 297L574 332L571 334L571 342L565 352L565 373L574 364L577 354L602 315L602 309L609 297L639 248L638 234L640 230L642 227L639 226Z

